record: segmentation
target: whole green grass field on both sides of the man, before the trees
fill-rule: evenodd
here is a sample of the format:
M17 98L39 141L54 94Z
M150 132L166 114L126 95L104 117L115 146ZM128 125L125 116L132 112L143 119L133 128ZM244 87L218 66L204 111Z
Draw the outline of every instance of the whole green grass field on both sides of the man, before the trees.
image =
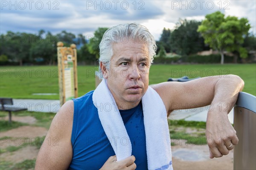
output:
M79 96L95 89L97 66L78 66ZM244 92L256 95L256 65L152 65L149 84L165 82L169 77L206 77L236 74L244 79ZM32 95L55 93L55 95ZM59 99L57 66L2 66L0 68L0 97L15 99Z

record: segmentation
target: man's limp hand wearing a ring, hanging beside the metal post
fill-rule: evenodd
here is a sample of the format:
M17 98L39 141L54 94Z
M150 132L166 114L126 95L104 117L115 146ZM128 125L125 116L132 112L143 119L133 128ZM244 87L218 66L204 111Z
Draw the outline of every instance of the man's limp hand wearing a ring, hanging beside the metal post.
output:
M211 159L227 155L239 141L227 113L218 111L208 112L206 137Z

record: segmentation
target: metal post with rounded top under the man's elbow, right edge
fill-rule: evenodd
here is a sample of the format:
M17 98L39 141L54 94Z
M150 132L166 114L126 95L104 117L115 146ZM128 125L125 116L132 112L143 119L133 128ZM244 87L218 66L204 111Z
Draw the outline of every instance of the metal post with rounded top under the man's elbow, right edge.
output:
M239 93L234 128L239 138L234 148L234 170L256 170L256 96Z

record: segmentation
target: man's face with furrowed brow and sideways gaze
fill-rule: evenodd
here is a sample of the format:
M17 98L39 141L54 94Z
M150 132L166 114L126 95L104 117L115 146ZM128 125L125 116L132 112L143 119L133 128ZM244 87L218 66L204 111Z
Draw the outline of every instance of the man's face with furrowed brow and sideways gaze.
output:
M149 68L148 47L144 43L129 40L126 44L113 44L107 83L119 109L132 108L140 102L148 89Z

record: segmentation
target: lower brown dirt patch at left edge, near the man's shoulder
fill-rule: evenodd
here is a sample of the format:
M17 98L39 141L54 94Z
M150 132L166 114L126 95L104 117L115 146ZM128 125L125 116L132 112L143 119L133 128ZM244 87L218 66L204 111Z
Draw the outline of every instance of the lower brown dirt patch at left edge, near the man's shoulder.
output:
M26 159L36 159L39 149L35 146L23 147L15 152L2 153L0 160L19 163Z

